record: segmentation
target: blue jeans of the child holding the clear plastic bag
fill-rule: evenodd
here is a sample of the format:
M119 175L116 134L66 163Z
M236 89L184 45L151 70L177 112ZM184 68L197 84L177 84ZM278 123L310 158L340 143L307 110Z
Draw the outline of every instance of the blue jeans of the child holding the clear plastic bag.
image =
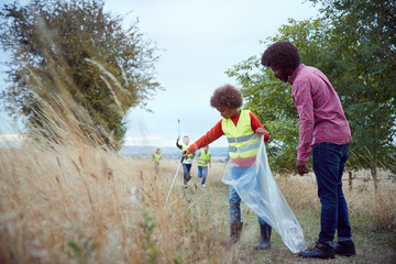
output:
M249 167L233 166L231 174L232 178L239 178L242 174L248 170ZM241 222L241 197L237 194L237 190L230 185L229 186L229 207L230 207L230 223ZM260 224L264 224L265 221L257 216Z

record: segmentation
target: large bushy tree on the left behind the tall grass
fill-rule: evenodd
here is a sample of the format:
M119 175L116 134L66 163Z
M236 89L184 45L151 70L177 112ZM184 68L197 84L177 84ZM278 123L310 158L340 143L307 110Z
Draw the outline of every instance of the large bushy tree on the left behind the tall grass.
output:
M153 77L155 46L136 22L124 30L123 18L103 6L101 0L32 0L2 7L0 43L11 54L12 81L3 99L12 114L26 117L28 127L46 134L50 125L37 98L53 108L62 98L87 134L95 127L118 147L125 111L144 107L161 89Z

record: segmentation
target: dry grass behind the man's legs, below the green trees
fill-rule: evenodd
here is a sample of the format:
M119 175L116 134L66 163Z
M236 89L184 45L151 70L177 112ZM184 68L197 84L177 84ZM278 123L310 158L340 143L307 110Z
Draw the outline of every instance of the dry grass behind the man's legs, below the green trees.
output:
M277 183L294 210L320 209L314 174L305 177L282 177ZM373 183L355 180L355 184L359 185L353 190L345 186L343 188L354 221L359 219L360 228L396 235L396 183L388 178L382 179L378 193L374 190Z

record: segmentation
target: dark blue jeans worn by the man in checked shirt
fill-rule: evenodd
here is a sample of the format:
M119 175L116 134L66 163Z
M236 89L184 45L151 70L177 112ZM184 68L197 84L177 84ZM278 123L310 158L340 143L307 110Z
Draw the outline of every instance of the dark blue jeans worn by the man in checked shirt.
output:
M342 193L342 173L349 158L349 144L320 143L312 147L312 165L321 204L320 233L322 242L352 237L348 206Z

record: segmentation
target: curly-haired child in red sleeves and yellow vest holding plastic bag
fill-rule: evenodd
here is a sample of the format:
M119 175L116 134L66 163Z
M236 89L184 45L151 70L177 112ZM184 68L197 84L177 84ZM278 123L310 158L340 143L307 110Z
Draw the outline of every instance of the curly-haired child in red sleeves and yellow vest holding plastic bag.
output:
M202 146L210 144L220 136L226 135L229 142L230 162L233 163L232 177L239 178L254 163L258 148L256 148L256 136L252 140L252 135L264 135L264 142L270 140L258 119L249 110L240 110L242 106L241 92L231 85L222 86L215 90L210 98L210 105L216 108L220 116L223 117L210 131L201 136L197 142L187 147L185 156L196 152ZM241 222L241 198L235 189L229 186L229 207L230 207L230 239L228 244L237 243L242 232ZM263 219L257 217L261 230L261 240L254 245L256 250L271 248L272 228Z

